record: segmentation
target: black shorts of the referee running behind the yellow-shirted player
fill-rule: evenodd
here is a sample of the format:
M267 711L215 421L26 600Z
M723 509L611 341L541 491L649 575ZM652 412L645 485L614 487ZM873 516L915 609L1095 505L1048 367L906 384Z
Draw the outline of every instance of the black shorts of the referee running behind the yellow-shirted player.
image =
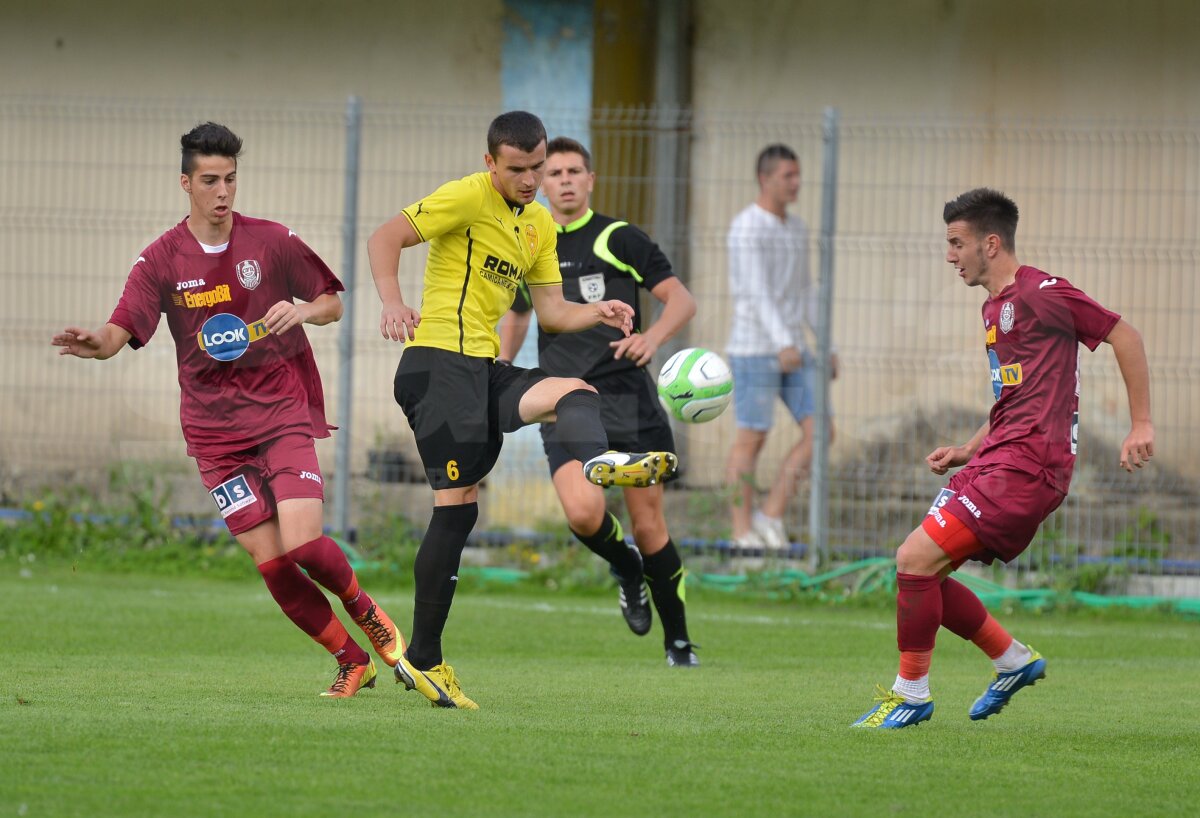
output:
M608 449L623 452L673 452L674 435L658 387L646 369L623 369L599 378L587 378L600 393L600 420L608 434ZM553 423L541 425L541 445L550 474L575 458L560 446Z

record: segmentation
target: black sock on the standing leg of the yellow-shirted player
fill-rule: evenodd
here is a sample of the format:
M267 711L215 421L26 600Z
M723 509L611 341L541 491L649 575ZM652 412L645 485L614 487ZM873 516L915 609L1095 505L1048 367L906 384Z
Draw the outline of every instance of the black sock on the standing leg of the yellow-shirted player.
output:
M442 663L442 631L458 584L458 561L479 519L479 504L436 506L416 549L413 634L406 655L419 670Z

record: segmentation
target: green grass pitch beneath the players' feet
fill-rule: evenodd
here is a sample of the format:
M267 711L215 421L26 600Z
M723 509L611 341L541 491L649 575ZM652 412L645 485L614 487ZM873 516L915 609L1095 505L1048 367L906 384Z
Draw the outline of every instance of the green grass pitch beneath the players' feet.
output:
M29 576L31 573L31 576ZM407 624L410 591L378 599ZM478 712L332 662L246 582L0 575L0 816L1148 816L1200 799L1195 622L1004 616L1048 679L986 722L942 632L932 722L851 730L895 673L893 614L691 594L698 670L608 596L458 594Z

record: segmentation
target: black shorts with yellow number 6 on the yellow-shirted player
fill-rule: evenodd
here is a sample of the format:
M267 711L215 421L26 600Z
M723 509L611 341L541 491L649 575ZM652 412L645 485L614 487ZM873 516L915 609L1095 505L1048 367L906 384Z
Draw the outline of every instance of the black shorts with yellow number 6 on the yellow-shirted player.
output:
M493 363L432 347L409 347L396 367L396 403L416 435L434 489L473 486L496 465L504 433L521 421L521 397L541 369Z

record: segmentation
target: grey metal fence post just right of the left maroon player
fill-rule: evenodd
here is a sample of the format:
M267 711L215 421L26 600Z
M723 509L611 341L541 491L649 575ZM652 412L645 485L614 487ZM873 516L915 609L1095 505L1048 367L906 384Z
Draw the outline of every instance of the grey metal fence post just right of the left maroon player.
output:
M337 335L337 425L334 456L334 530L343 536L350 530L350 443L353 440L354 392L354 264L359 235L359 146L362 142L362 101L346 100L346 192L342 206L342 283L344 312Z

